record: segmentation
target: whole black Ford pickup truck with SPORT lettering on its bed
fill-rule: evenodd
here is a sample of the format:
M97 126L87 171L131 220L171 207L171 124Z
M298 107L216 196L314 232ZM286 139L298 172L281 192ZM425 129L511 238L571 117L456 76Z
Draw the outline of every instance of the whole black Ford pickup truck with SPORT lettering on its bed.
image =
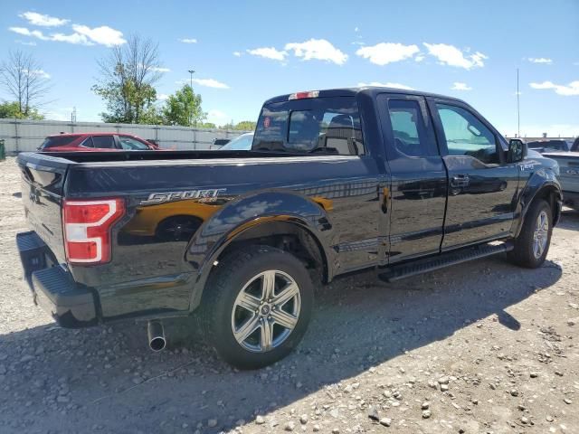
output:
M265 102L249 151L23 153L24 275L64 327L195 312L229 363L279 360L314 283L506 252L541 266L558 166L460 99L384 88Z

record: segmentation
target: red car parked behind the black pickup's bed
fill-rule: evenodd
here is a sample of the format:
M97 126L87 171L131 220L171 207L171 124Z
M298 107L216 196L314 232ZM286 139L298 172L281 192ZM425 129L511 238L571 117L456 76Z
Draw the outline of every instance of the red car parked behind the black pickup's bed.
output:
M39 151L70 152L70 151L145 151L158 150L154 145L142 138L130 134L118 133L79 133L58 134L46 137Z

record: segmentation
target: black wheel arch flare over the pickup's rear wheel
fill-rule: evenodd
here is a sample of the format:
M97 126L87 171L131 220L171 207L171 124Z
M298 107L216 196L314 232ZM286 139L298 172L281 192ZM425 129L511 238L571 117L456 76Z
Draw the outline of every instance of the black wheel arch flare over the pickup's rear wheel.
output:
M201 302L214 261L243 231L259 224L289 222L307 230L323 250L331 275L333 250L329 246L334 243L334 231L327 215L330 210L331 203L276 190L244 196L223 206L199 228L185 253L185 259L197 269L190 310Z

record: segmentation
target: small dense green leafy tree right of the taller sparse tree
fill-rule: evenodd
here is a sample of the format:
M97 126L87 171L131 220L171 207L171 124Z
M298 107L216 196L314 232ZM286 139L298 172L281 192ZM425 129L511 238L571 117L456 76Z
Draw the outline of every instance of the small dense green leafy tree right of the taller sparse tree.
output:
M185 84L166 100L163 108L165 123L185 127L197 126L207 118L201 103L201 95L195 94L191 86Z

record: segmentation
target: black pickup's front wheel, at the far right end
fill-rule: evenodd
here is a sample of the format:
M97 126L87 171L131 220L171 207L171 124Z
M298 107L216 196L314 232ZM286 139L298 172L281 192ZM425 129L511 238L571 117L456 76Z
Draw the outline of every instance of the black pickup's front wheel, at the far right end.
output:
M508 255L513 262L529 269L543 265L551 243L552 216L551 207L545 200L531 203L523 228L515 240L515 249Z

